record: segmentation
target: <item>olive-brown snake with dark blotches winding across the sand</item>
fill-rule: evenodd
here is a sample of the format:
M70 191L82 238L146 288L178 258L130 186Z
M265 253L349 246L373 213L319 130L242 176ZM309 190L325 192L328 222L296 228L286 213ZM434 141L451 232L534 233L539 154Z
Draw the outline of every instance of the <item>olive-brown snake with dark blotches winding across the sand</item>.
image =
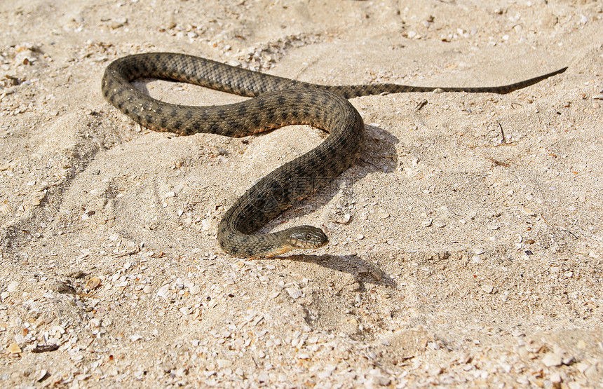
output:
M233 67L180 53L142 53L111 62L102 77L102 94L123 114L156 131L178 135L213 133L244 137L285 125L311 125L329 136L316 148L276 168L226 211L217 228L224 252L234 257L271 258L293 249L313 250L329 242L315 226L257 231L288 207L311 196L355 163L363 151L363 118L348 101L388 93L510 93L560 74L567 67L505 86L429 87L394 83L325 86ZM244 97L236 104L184 106L156 100L133 87L135 79L193 83Z

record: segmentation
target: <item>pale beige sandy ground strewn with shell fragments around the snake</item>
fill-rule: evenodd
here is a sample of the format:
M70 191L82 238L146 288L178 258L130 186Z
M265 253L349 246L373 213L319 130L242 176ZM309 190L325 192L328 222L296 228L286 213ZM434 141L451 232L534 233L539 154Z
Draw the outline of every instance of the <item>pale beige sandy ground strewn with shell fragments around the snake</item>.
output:
M603 385L602 18L589 0L2 1L0 386ZM327 84L569 69L353 99L362 160L266 228L330 245L245 261L217 244L222 214L325 135L140 128L100 79L160 50Z

